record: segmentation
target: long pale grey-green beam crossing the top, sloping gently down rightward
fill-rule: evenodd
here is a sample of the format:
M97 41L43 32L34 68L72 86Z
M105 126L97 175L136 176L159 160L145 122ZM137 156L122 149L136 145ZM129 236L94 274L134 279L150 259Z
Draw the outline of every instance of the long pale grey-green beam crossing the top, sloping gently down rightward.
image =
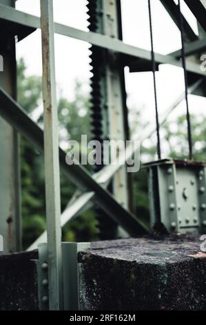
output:
M0 19L7 19L9 21L14 21L33 28L41 28L39 17L35 17L3 5L0 5ZM54 31L57 34L86 41L92 45L112 50L116 53L124 55L127 58L127 61L123 60L125 65L127 65L127 62L129 64L131 59L134 60L136 58L144 59L148 62L151 61L151 53L149 50L143 50L142 48L127 45L119 39L112 39L111 37L107 37L95 32L85 32L83 30L56 23L54 24ZM172 64L174 66L182 66L181 61L174 58L172 55L161 55L156 53L155 58L157 64ZM205 75L205 72L200 70L200 64L195 62L187 62L187 71L198 75Z

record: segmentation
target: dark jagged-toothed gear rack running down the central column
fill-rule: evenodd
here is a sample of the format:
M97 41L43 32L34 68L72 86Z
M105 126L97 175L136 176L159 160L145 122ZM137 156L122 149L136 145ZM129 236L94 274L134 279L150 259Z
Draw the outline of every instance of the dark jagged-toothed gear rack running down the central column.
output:
M91 0L87 3L87 22L89 24L88 29L90 32L101 32L99 31L101 26L101 11L99 5L101 1L105 0ZM103 78L105 76L105 58L102 49L91 46L90 49L90 72L92 77L90 78L91 91L91 124L92 124L92 138L93 140L99 140L103 143L105 140L104 128L103 128L103 110L105 104L105 94L103 93ZM106 136L107 137L107 136ZM102 165L94 165L93 171L97 172L103 168ZM107 214L99 208L95 208L97 228L99 230L99 239L114 239L116 238L117 226L114 221L111 221Z

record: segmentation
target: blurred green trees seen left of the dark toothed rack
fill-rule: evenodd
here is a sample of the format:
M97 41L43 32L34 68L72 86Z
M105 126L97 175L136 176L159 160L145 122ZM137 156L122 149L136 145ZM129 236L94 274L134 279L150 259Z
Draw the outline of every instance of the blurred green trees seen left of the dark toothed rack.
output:
M41 111L41 77L27 76L23 59L18 64L18 102L29 114ZM76 82L75 99L61 97L58 103L60 142L80 141L81 134L90 137L89 98L83 95ZM33 114L34 115L34 114ZM37 114L38 115L38 114ZM42 126L43 114L38 121ZM23 247L26 248L45 230L45 184L43 156L21 137L21 191L23 216ZM65 209L75 191L74 185L61 174L61 209ZM94 214L89 210L63 229L65 241L89 241L95 239Z

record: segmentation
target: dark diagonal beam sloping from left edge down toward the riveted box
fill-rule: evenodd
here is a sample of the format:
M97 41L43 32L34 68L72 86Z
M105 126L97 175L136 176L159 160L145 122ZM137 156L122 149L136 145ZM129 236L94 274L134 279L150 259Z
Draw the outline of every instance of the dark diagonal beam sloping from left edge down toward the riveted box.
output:
M43 153L43 130L1 88L0 115ZM119 205L112 194L99 185L84 167L79 164L67 165L65 156L65 152L59 149L59 161L62 171L81 192L94 192L94 203L101 207L114 221L119 223L131 236L136 236L143 230L150 232L147 226L138 220L134 214Z

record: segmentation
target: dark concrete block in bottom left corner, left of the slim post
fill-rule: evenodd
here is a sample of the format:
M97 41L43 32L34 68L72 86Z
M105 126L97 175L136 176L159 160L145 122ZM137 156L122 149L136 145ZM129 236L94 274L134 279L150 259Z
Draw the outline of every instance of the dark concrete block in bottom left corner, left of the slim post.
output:
M0 256L0 310L38 310L38 252Z

